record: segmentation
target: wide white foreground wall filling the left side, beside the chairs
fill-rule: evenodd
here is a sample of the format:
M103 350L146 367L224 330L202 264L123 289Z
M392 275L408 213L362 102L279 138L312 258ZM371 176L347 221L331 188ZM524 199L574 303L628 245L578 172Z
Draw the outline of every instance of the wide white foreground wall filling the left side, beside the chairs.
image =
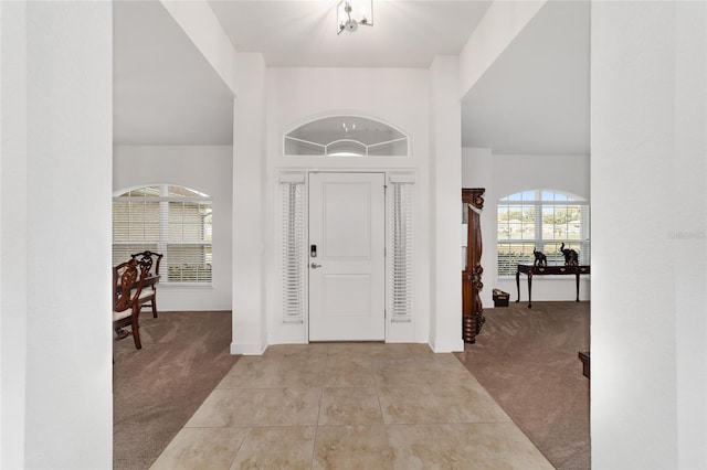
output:
M112 14L2 4L2 468L112 467Z

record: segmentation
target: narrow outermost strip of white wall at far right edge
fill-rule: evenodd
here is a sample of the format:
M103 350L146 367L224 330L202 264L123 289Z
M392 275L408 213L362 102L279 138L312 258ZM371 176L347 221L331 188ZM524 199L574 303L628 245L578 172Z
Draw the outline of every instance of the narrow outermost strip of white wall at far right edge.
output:
M707 468L707 3L675 6L675 263L678 468ZM696 372L701 371L701 373Z

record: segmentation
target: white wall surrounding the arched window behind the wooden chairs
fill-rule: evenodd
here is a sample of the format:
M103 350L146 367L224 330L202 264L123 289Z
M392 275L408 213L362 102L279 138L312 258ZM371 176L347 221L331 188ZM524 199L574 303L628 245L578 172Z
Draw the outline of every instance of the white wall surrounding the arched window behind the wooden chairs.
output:
M159 310L231 310L232 168L230 146L114 147L114 192L169 183L213 197L213 286L160 285Z

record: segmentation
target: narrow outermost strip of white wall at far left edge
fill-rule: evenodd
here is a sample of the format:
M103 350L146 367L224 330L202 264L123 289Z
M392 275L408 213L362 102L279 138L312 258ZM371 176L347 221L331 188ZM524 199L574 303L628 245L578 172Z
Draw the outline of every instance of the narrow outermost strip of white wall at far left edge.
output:
M25 3L0 2L0 468L24 468L27 376Z

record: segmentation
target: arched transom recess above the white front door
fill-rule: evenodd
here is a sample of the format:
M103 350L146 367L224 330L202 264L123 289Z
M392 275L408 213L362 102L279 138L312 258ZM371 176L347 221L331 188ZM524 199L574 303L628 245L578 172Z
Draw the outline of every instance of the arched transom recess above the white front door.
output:
M285 133L285 156L408 157L408 136L360 116L330 116Z

